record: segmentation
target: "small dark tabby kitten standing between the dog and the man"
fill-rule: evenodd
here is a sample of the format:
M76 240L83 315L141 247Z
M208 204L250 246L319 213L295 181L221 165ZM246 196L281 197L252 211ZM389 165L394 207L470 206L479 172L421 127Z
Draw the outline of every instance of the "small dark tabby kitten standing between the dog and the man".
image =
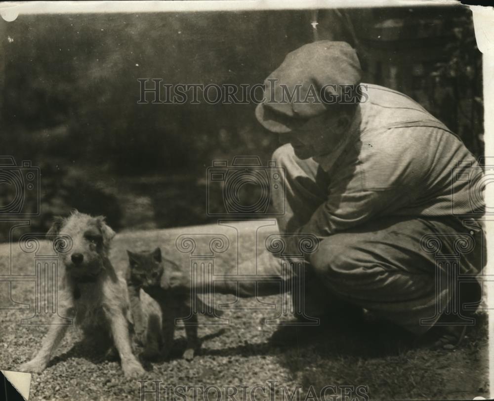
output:
M197 337L197 315L191 314L190 294L177 293L169 289L164 273L177 272L179 266L171 260L162 258L161 249L153 251L131 252L127 250L129 268L126 274L128 293L130 298L130 308L136 327L136 334L140 338L145 338L145 351L143 357L152 359L159 355L168 357L173 335L175 332L175 319L186 319L185 335L187 337L187 347L184 352L184 359L190 361L194 358L194 352L199 348L200 343ZM144 335L144 318L140 307L139 290L143 289L154 298L161 307L161 336L160 323L149 321L147 334ZM219 317L223 314L209 305L205 304L196 296L194 301L198 309L206 316Z

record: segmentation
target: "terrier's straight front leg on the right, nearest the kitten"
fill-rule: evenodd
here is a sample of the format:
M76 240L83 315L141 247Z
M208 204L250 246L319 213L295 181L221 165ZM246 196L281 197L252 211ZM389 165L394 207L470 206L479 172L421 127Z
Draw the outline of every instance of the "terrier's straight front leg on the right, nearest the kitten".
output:
M119 352L124 375L127 377L142 376L145 373L145 370L139 361L137 361L134 357L134 354L132 354L130 337L128 334L128 325L124 314L120 310L111 308L106 310L106 315L108 321L110 322L113 341L115 343L115 347L117 347L117 351Z

